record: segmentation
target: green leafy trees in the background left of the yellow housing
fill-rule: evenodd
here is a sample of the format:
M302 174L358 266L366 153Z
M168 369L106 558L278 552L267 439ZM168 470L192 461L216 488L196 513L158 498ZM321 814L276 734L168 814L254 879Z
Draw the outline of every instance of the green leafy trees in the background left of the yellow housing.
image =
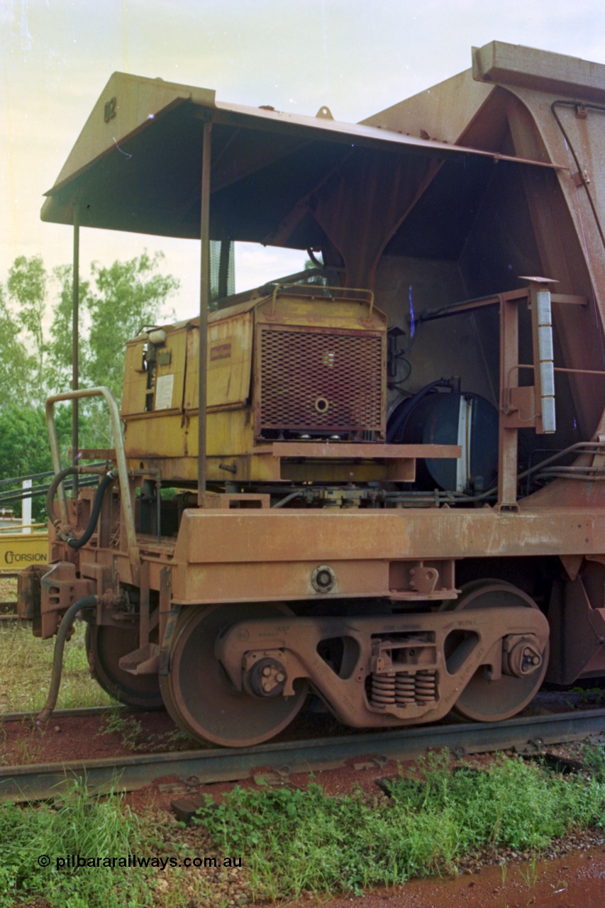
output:
M178 281L159 272L163 256L147 252L128 262L92 266L79 283L81 388L104 385L122 393L126 341L144 325L174 318L168 298ZM0 477L51 469L45 429L46 398L72 385L72 269L45 270L39 256L15 259L0 283ZM56 416L69 444L71 407ZM94 400L80 402L81 444L111 444L108 420Z

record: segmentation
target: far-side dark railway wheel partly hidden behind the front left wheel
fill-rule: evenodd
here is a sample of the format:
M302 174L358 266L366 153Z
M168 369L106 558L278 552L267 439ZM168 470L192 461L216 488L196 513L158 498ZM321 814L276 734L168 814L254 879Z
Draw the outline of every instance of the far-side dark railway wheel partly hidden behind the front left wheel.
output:
M138 628L87 625L85 646L94 680L109 696L144 709L164 706L157 675L131 675L119 666L139 646Z

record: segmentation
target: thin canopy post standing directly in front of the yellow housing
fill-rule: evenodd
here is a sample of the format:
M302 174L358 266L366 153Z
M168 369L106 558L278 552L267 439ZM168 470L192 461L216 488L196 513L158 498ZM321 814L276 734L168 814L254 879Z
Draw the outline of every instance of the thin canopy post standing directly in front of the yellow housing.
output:
M202 202L200 205L200 351L198 372L197 504L206 498L206 383L208 358L208 304L210 302L210 155L213 124L203 123Z

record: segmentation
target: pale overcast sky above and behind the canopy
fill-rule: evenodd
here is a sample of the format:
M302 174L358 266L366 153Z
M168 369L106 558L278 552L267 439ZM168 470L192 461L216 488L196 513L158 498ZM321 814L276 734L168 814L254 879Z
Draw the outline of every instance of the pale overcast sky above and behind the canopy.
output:
M603 0L0 0L0 281L17 255L71 262L72 230L42 223L50 189L115 70L201 85L219 100L357 122L471 66L471 46L526 44L605 63ZM81 268L147 248L197 310L198 243L81 232ZM303 252L236 251L237 290Z

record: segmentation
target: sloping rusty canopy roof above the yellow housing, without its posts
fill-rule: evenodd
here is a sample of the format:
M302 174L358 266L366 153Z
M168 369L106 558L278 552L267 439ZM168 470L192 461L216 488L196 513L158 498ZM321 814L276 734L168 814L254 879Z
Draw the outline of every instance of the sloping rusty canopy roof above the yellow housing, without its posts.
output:
M115 73L46 193L43 221L74 223L77 204L82 226L199 238L209 118L214 239L322 246L334 219L351 214L344 196L363 198L366 208L373 192L374 208L391 205L394 217L444 162L476 162L482 173L490 158L520 161L321 116L222 104L207 89Z

